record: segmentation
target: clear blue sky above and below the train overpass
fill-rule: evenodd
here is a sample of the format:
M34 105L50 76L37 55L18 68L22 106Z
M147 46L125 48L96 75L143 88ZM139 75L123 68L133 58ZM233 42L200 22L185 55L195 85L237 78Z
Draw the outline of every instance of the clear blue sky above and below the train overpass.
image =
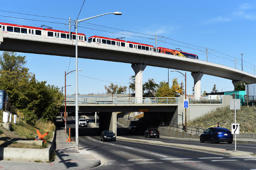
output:
M54 0L43 3L42 1L28 1L27 3L18 0L15 0L15 3L5 1L1 3L0 10L46 17L0 11L0 21L37 27L47 25L57 30L68 31L68 25L50 23L67 23L67 20L47 17L76 19L83 1ZM87 20L86 23L80 24L78 32L84 33L87 37L92 35L125 37L125 40L152 45L155 43L154 37L145 34L157 34L159 35L158 47L180 48L182 51L197 54L200 60L206 60L205 48L208 47L210 62L234 68L234 57L236 57L237 69L241 69L241 55L239 54L243 53L243 69L254 73L256 65L255 0L85 0L78 19L115 11L120 11L123 15L106 15ZM64 86L64 71L75 69L75 58L19 54L26 56L26 67L36 75L37 80L47 81L48 84L60 88ZM134 75L130 64L90 59L79 59L78 61L78 67L82 69L79 72L80 94L105 93L104 85L109 85L110 82L128 86L129 77ZM179 73L171 72L169 75L170 80L178 78L179 83L185 82ZM191 73L187 72L187 76L187 93L192 94ZM143 73L143 82L147 82L149 78L153 78L157 83L168 81L168 69L148 66ZM234 89L231 80L209 75L202 77L202 91L211 92L213 84L216 84L219 91ZM67 85L71 85L67 87L67 94L74 94L75 74L67 76Z

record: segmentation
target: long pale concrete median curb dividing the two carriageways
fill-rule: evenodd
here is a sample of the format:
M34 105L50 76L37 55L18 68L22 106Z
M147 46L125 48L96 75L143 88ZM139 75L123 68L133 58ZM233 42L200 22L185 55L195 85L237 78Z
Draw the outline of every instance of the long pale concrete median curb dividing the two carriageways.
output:
M204 147L204 146L194 146L194 145L185 145L185 144L173 144L173 143L165 143L165 142L159 142L159 141L149 141L149 140L143 140L143 139L129 139L126 137L117 136L117 139L120 141L128 141L128 142L135 142L135 143L144 143L144 144L150 144L150 145L159 145L159 146L169 146L174 148L181 148L181 149L189 149L189 150L195 150L195 151L202 151L202 152L208 152L208 153L217 153L217 154L224 154L224 155L230 155L230 156L248 156L252 155L254 153L249 152L243 152L243 151L230 151L225 150L221 148L210 148L210 147Z

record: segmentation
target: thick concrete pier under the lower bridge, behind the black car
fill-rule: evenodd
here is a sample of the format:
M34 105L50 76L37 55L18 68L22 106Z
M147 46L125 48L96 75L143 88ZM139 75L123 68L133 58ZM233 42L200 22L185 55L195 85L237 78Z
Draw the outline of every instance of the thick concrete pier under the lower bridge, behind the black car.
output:
M116 112L100 112L100 131L113 131L115 134L117 133L117 113Z

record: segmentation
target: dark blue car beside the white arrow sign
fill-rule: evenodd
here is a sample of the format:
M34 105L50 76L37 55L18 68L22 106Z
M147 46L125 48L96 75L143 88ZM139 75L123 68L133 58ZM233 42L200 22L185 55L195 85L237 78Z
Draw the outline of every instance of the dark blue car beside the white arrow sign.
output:
M203 134L200 135L200 142L204 143L206 141L212 143L219 143L219 142L233 142L233 135L227 128L222 127L213 127L209 128L204 131Z

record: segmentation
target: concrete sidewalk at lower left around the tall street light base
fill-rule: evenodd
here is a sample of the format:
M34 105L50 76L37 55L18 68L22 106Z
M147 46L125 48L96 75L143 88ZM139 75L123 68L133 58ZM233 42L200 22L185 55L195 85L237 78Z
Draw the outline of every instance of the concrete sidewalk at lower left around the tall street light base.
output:
M0 160L0 170L86 170L101 164L100 160L86 150L75 149L75 142L66 142L62 119L56 120L56 153L50 163Z

